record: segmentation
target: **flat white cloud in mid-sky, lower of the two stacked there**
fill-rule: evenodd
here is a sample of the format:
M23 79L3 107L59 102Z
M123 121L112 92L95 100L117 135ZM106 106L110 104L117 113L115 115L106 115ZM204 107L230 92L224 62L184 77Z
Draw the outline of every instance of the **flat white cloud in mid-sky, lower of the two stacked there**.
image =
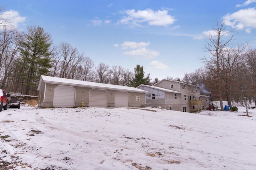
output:
M160 55L158 51L150 50L145 47L132 50L132 51L126 51L124 52L126 55L138 55L138 56L143 56L144 59L152 59L154 57L157 57Z

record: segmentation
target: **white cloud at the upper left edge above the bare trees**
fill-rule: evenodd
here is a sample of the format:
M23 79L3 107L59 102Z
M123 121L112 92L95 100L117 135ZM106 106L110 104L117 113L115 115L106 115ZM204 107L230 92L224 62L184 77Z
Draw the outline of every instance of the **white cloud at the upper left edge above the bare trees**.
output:
M3 12L0 15L0 20L1 19L8 20L9 22L8 26L18 28L18 24L25 22L26 17L20 16L18 11L9 10L9 11Z

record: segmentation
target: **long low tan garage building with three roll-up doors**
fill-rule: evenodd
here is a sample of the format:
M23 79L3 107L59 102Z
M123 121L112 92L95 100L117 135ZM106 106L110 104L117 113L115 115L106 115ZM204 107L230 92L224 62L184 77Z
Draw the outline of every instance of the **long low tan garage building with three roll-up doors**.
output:
M144 107L146 91L41 75L38 107Z

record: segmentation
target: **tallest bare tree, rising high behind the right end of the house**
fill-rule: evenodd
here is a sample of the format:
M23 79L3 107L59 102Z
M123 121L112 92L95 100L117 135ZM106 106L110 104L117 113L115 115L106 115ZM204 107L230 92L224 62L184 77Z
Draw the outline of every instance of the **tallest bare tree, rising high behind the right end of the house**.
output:
M213 26L213 32L210 32L206 37L206 51L210 52L210 57L204 57L203 60L207 64L212 63L215 65L216 79L218 80L218 93L220 103L222 103L222 89L221 89L221 74L220 74L220 55L222 55L223 50L231 44L231 41L234 39L234 31L228 31L227 27L224 26L225 21L221 23L216 20L216 25ZM221 110L223 111L223 105L220 105Z

